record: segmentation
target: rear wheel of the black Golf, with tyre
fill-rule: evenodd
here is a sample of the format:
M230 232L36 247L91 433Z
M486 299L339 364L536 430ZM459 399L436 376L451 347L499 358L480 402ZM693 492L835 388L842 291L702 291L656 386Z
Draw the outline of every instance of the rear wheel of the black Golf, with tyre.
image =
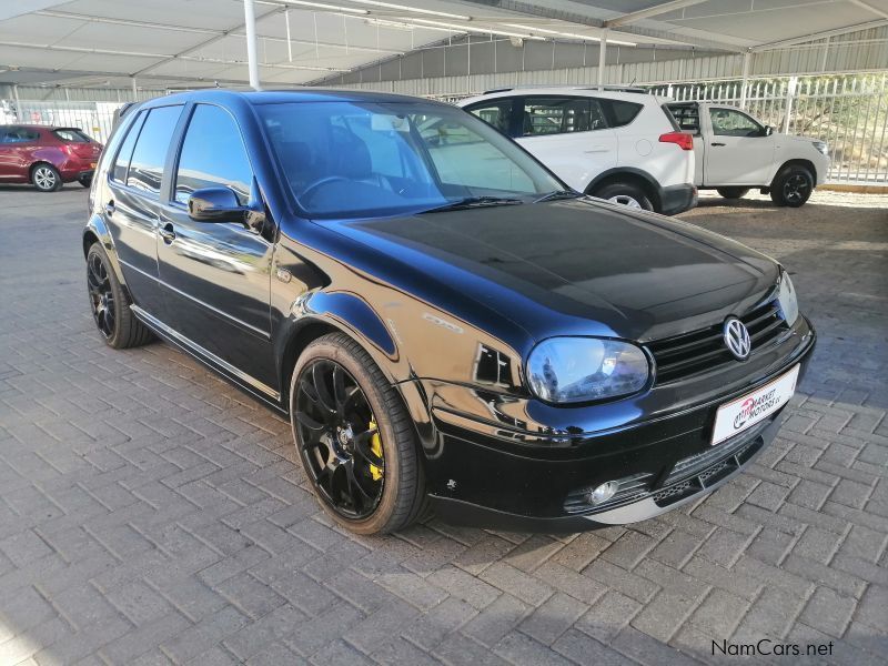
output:
M151 342L153 334L130 310L130 300L120 284L101 243L87 252L87 291L92 319L108 346L125 350Z

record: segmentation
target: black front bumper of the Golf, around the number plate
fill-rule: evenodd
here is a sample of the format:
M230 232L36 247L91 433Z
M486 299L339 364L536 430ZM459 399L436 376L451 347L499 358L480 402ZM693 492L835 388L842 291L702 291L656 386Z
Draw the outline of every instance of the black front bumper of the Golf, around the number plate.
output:
M432 411L438 446L426 451L426 476L436 514L445 522L518 532L577 532L654 517L712 492L739 474L774 440L785 406L753 428L710 446L718 406L800 364L815 346L807 323L784 362L754 383L664 416L601 432L553 432L522 441L465 414ZM512 437L512 443L506 441ZM614 500L584 498L622 480Z

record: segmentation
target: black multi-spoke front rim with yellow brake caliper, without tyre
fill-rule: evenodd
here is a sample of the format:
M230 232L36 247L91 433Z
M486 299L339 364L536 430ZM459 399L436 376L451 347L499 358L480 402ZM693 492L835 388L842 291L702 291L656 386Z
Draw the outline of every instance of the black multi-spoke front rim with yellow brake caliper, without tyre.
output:
M366 395L327 359L304 366L295 385L300 454L319 495L343 518L369 517L382 500L385 461Z

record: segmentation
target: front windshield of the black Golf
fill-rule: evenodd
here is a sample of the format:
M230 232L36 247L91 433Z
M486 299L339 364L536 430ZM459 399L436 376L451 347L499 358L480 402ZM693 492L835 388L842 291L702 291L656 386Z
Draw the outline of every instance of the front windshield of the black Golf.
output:
M423 102L256 107L293 196L312 218L529 203L564 185L462 109Z

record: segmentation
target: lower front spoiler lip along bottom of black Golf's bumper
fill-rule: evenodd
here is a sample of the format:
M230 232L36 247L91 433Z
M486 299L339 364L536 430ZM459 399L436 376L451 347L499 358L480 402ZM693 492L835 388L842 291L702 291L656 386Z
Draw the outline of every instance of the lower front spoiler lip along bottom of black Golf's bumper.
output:
M453 497L431 495L435 514L445 523L486 527L507 532L574 533L638 523L698 501L740 474L774 441L783 422L778 415L743 446L727 450L724 456L712 458L705 468L676 477L663 487L636 502L595 513L557 517L513 514L472 504Z

